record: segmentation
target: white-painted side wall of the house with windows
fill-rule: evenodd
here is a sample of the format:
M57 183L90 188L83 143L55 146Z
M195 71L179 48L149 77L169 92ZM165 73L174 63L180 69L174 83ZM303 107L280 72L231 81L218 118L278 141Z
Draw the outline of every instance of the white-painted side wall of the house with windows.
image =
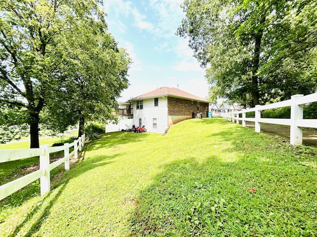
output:
M137 110L136 101L133 107L133 122L139 126L139 118L149 132L164 133L167 128L167 98L159 97L159 106L154 106L154 98L143 100L143 110ZM153 128L153 118L157 118L157 128Z

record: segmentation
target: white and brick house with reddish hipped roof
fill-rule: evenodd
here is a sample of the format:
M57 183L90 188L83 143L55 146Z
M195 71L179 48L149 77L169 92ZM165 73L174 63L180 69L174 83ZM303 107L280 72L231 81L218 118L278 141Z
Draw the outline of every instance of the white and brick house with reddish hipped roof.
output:
M169 126L201 113L208 117L209 101L177 88L161 87L130 100L135 126L163 133Z

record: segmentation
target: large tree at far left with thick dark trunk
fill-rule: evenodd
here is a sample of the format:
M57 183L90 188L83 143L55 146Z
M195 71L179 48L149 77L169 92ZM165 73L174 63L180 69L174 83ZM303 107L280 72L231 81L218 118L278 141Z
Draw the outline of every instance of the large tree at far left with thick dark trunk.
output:
M76 69L68 55L71 50L64 49L68 45L67 37L76 31L78 22L82 28L89 28L92 22L106 28L97 3L94 0L0 0L0 104L26 109L31 148L39 147L43 109L48 106L46 114L50 117L68 103L63 96ZM78 39L82 37L87 35ZM52 104L54 109L49 107Z

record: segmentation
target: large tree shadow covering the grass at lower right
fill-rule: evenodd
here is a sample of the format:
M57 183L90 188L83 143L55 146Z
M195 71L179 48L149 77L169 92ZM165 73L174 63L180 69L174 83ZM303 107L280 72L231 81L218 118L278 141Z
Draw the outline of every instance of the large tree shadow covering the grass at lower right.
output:
M267 134L256 134L253 143L249 129L230 130L215 135L232 141L223 153L240 151L233 161L213 154L203 162L192 157L163 166L137 197L131 236L317 235L316 167L294 159L301 148L277 144Z

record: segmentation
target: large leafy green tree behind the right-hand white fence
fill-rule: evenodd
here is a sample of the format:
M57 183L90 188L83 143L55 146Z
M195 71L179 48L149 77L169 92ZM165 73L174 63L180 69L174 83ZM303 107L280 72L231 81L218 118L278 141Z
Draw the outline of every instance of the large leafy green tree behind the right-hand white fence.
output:
M316 90L316 80L296 80L304 69L316 73L316 6L296 0L185 0L177 34L189 37L194 56L208 66L212 93L243 105L264 104ZM294 65L303 57L305 62ZM288 67L291 62L296 70Z

